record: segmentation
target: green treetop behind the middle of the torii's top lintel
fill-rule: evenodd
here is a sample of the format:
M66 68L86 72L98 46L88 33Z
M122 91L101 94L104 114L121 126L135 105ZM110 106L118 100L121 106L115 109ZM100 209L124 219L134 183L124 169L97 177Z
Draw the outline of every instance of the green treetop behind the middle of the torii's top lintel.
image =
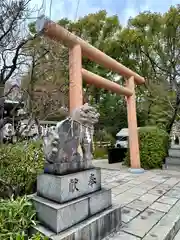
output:
M122 29L116 15L109 17L107 16L107 12L102 10L80 18L76 22L68 21L68 19L62 19L58 21L58 23L77 36L86 40L91 45L113 57L109 46L114 44L117 32ZM97 65L87 58L83 58L83 67L107 79L110 78L113 80L113 77L115 76L115 74L113 74L109 69L105 69L102 66ZM95 103L98 104L100 96L102 96L104 90L97 89L93 86L87 88L85 83L84 88L85 92L88 90L87 94L92 95Z

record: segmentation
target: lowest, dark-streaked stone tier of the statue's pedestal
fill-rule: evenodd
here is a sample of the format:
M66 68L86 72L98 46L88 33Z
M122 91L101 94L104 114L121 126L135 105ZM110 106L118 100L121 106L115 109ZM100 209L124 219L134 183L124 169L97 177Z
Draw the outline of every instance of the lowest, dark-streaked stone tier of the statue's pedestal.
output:
M49 240L102 240L119 230L120 226L121 208L116 205L59 234L54 234L42 225L35 226L31 233L40 232Z

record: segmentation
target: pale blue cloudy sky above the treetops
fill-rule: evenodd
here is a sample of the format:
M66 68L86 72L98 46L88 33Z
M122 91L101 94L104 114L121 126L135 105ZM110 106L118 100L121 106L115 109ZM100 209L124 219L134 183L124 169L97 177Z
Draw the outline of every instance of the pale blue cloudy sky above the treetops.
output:
M118 15L120 23L126 25L130 17L139 12L166 12L179 0L31 0L31 7L39 9L38 15L45 14L52 20L67 17L77 20L79 17L99 10L106 10L109 15ZM36 17L36 16L35 16Z

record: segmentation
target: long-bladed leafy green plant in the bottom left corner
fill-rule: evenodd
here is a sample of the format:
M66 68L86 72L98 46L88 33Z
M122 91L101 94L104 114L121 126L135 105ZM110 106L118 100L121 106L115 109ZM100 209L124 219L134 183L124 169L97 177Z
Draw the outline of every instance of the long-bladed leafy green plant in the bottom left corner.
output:
M47 240L40 234L28 238L29 228L36 224L36 211L27 197L0 200L0 240Z

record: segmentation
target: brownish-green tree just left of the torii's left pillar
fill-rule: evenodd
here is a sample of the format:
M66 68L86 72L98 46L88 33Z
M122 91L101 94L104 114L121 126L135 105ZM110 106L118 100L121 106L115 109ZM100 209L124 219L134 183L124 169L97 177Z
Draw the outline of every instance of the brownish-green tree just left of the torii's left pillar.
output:
M29 25L36 34L34 23ZM68 54L62 45L37 37L26 44L24 53L31 55L22 89L26 92L27 110L31 118L60 120L67 115Z

